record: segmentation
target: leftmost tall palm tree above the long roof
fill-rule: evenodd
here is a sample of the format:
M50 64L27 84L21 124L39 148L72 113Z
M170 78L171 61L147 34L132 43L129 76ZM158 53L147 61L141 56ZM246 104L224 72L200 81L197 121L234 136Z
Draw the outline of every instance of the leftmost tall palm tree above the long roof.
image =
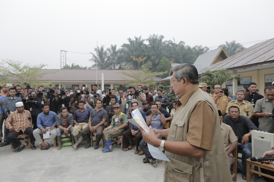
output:
M92 55L92 58L88 61L92 61L95 63L92 67L96 66L98 69L108 69L110 67L110 61L108 60L108 53L104 50L104 45L101 47L94 48L95 54L89 53Z

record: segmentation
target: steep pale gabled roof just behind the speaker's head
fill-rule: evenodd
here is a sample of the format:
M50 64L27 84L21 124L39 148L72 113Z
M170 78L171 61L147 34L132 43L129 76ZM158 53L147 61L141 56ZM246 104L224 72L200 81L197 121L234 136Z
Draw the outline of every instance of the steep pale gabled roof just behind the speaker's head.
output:
M212 50L208 53L204 53L200 55L196 61L194 62L194 66L197 68L198 72L202 70L203 68L206 68L210 65L213 65L214 63L217 63L219 61L223 61L227 59L229 56L226 53L225 49L223 47L218 48L216 50Z

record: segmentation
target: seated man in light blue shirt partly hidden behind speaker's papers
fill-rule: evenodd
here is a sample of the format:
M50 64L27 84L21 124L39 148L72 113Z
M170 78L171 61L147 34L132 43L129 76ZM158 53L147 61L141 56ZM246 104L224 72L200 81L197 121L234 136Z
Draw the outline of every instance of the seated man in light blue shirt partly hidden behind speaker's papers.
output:
M151 126L152 129L163 129L163 125L165 124L165 117L164 115L159 111L158 105L153 103L151 105L151 115L147 117L147 125ZM159 138L161 139L161 137ZM154 159L152 155L149 152L147 143L144 141L144 139L140 142L140 147L144 151L146 157L143 159L144 163L151 163L154 167L157 165L157 159Z

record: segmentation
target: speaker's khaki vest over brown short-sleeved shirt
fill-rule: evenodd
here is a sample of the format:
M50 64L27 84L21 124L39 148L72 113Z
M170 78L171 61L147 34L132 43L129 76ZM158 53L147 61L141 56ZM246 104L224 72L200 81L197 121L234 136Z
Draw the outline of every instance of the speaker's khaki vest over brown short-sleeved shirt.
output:
M165 151L164 181L231 181L216 104L193 87L178 101L167 141L189 142L204 149L200 158L179 156Z

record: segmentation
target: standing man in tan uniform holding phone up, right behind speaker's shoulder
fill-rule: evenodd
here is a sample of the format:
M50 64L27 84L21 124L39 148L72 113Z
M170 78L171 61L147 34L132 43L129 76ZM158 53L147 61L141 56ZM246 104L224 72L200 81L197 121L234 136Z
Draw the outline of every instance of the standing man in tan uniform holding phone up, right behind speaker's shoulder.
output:
M221 90L221 85L214 85L213 91L214 94L211 98L214 100L217 105L217 109L221 111L222 115L225 116L226 107L228 105L228 100L226 95L224 95L223 90Z

